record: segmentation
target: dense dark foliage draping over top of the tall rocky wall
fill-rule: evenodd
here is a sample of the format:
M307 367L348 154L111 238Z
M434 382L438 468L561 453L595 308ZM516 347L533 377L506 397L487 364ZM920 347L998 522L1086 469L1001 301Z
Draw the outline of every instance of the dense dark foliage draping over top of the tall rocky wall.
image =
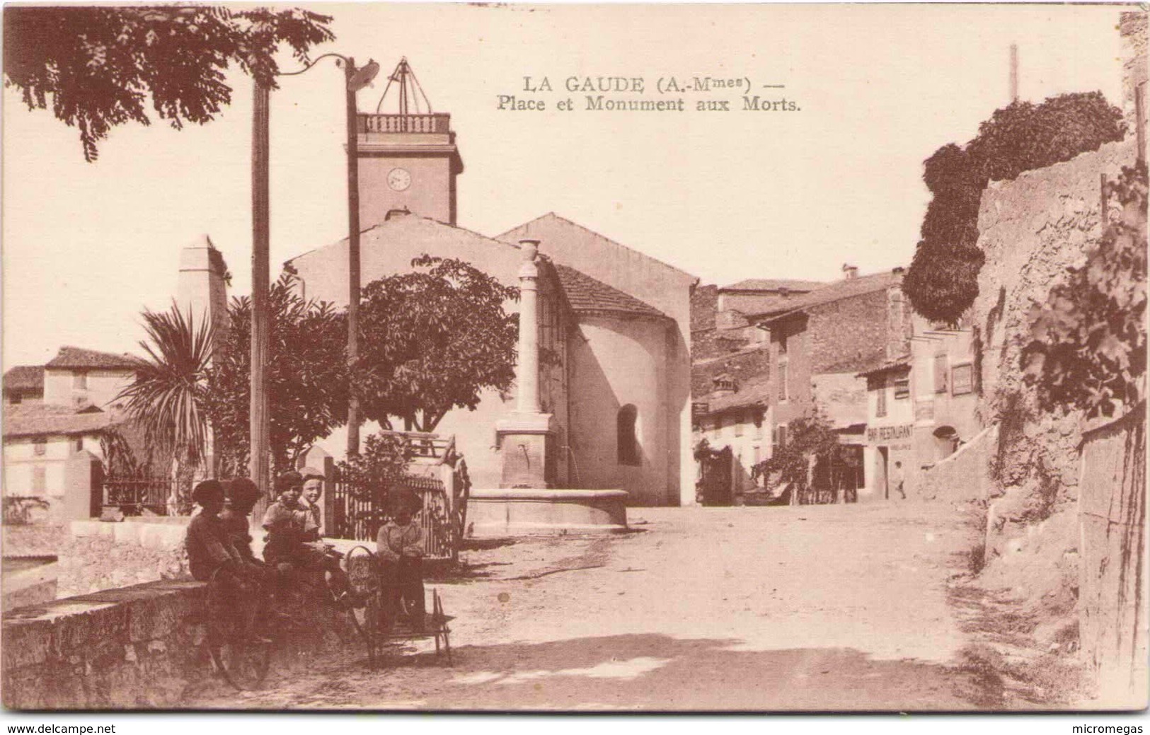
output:
M957 322L977 297L984 260L977 246L979 205L989 182L1068 161L1124 133L1121 110L1101 92L1060 94L1041 105L1013 102L997 109L965 147L949 144L935 151L922 167L934 198L903 280L914 311Z

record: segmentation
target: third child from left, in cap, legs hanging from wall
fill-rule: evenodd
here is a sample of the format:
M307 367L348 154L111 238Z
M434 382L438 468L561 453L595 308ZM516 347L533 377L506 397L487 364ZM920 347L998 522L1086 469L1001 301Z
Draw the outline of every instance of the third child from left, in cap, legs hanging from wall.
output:
M342 604L351 604L347 574L339 568L339 558L328 553L328 546L317 538L316 527L308 511L299 505L302 477L290 472L276 477L278 499L263 514L268 531L263 560L282 574L293 569L324 572L332 596Z

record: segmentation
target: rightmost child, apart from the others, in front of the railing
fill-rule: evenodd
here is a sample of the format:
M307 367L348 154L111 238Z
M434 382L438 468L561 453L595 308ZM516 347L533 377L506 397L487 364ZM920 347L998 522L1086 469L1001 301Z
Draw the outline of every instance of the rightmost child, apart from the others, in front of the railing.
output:
M411 503L398 504L392 520L379 529L375 546L389 622L399 612L400 600L405 600L412 627L423 633L423 529L415 521Z

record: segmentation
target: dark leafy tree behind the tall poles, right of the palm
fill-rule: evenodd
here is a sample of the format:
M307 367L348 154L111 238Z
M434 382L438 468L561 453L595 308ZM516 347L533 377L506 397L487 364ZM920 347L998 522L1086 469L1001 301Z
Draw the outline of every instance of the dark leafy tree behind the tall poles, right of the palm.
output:
M268 294L268 409L271 455L286 470L317 441L347 421L347 326L325 301L304 300L284 273ZM227 474L246 474L251 396L252 303L235 298L231 328L208 373L206 406L215 451Z

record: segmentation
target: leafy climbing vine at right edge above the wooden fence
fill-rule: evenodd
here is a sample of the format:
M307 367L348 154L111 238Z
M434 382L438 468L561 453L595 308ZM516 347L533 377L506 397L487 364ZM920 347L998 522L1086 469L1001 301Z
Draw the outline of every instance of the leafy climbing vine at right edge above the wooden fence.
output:
M1106 183L1122 205L1086 265L1072 268L1044 305L1030 309L1021 367L1044 409L1112 415L1145 399L1147 168L1124 168Z

